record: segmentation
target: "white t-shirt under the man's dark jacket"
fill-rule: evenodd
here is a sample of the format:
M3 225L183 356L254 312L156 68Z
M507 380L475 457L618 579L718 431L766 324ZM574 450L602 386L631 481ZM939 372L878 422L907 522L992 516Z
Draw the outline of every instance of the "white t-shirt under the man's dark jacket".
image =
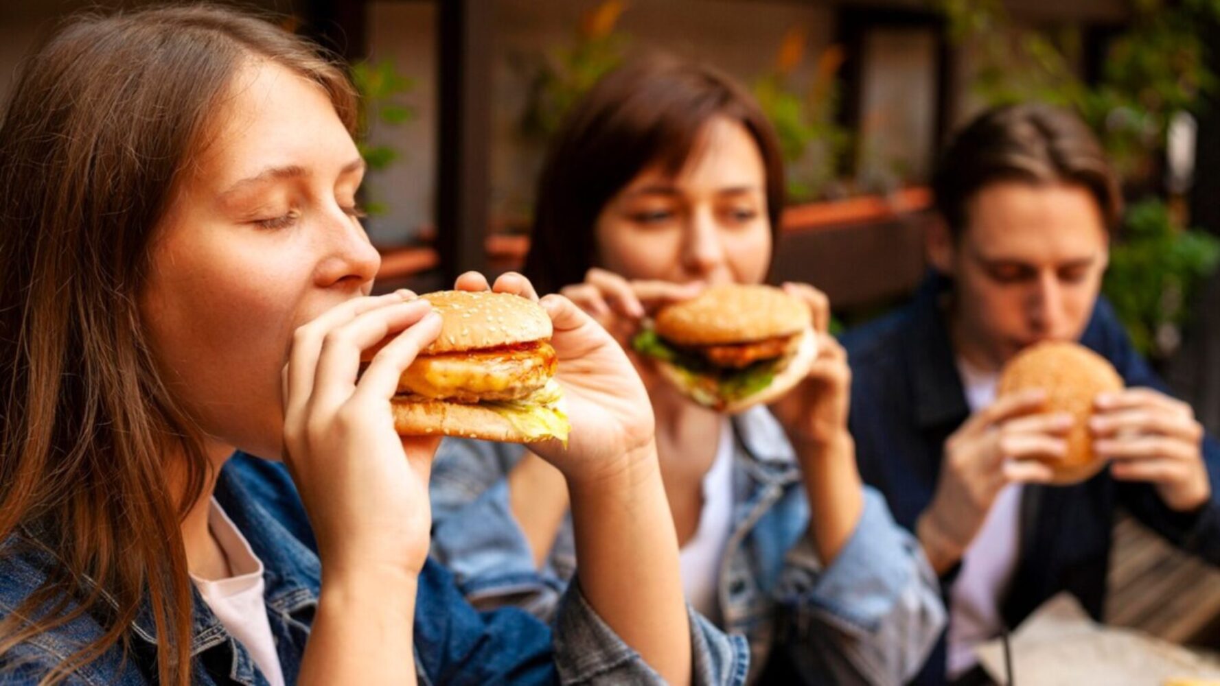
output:
M998 374L980 373L964 359L958 370L971 412L996 401ZM1021 485L1000 489L978 535L961 558L961 569L949 590L949 664L956 679L978 663L975 648L1000 632L1000 602L1016 571L1021 537Z

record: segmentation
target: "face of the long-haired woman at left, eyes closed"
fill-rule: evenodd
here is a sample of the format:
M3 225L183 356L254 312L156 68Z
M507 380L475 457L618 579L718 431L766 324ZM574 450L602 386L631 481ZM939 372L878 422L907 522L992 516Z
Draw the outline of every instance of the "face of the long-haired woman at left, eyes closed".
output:
M364 162L327 95L244 68L155 234L140 311L171 391L216 441L282 451L293 331L366 295L379 257L357 219Z

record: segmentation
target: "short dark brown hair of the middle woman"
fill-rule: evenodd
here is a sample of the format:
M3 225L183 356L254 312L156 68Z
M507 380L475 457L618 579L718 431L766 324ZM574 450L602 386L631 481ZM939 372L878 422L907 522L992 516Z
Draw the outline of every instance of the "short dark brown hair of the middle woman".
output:
M605 205L650 164L677 173L709 121L728 117L754 138L766 171L767 216L780 228L783 157L758 102L731 77L665 55L606 74L567 116L538 182L525 273L539 292L582 281L597 264Z

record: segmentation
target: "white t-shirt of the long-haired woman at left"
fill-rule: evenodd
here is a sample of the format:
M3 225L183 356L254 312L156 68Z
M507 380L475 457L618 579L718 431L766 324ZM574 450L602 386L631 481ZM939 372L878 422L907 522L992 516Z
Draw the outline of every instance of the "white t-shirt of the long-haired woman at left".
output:
M271 686L284 686L284 671L279 667L276 640L271 635L267 608L262 601L262 560L254 554L245 536L224 514L216 498L212 498L207 513L207 528L224 551L233 576L216 581L195 575L190 579L224 630L245 647Z

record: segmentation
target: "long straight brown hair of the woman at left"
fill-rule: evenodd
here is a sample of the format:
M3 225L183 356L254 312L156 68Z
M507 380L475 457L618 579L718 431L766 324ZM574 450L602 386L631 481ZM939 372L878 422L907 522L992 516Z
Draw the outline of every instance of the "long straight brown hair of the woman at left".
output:
M317 83L353 129L350 84L314 45L212 6L71 19L24 63L0 119L0 542L37 526L56 558L0 621L0 654L82 615L105 630L49 682L128 648L145 604L160 682L189 680L179 523L209 465L135 303L176 180L253 58ZM166 454L185 457L185 492Z

